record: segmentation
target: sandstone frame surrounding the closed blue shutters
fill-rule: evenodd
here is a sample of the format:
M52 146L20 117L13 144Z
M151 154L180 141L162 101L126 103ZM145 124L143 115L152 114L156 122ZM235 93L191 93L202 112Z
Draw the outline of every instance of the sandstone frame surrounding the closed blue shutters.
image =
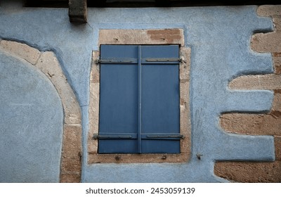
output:
M88 164L93 163L184 163L190 158L191 151L191 124L190 124L190 48L184 45L182 29L157 30L100 30L98 49L101 44L117 45L165 45L177 44L179 56L179 84L180 84L180 134L181 153L98 153L98 140L93 139L99 131L99 105L100 105L100 64L98 63L100 51L93 51L90 102L89 102L89 134L87 139Z

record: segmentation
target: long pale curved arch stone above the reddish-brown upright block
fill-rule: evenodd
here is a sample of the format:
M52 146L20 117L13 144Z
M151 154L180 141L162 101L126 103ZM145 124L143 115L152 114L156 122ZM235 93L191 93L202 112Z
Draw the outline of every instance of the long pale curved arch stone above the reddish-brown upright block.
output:
M55 89L60 94L65 112L65 124L81 123L81 113L76 96L70 84L67 83L55 54L51 51L42 53L36 66L53 82Z

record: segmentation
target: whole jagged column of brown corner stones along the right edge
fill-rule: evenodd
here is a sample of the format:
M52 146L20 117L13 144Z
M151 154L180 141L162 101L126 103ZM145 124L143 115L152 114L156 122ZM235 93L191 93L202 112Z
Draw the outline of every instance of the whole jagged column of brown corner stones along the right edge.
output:
M268 89L274 91L273 105L267 114L226 113L220 124L226 132L275 136L273 163L220 161L214 173L234 182L281 182L281 6L259 6L257 13L273 18L274 32L254 34L251 49L272 53L274 74L245 75L228 84L230 89Z

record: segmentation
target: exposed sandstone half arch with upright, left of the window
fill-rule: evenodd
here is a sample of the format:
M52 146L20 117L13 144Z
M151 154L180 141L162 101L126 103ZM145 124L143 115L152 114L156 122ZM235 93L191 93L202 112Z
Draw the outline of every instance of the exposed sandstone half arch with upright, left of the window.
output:
M80 107L55 54L52 51L39 51L27 44L1 39L0 48L41 70L58 91L64 112L60 182L81 182Z

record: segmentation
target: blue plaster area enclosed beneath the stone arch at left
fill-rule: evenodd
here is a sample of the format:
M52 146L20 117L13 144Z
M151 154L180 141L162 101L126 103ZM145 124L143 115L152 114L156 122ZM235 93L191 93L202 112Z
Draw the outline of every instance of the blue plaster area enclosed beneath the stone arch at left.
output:
M0 49L0 182L58 182L63 108L30 63Z

